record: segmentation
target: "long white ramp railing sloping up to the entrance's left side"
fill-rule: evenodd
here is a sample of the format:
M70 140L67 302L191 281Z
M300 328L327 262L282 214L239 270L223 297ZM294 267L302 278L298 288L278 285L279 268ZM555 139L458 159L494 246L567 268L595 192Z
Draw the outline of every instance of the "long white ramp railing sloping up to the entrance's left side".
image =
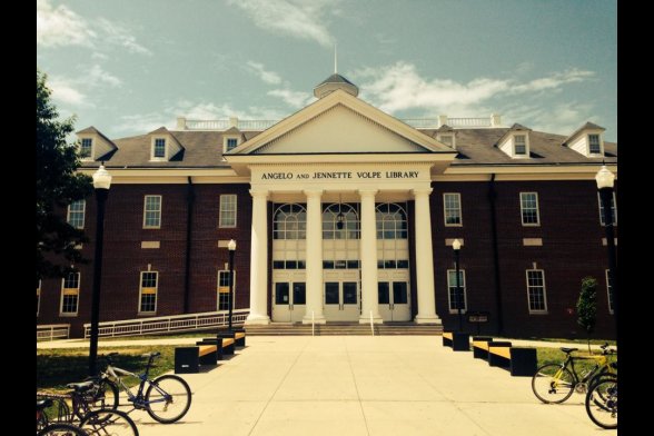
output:
M242 326L249 313L249 308L232 310L231 324L235 326ZM201 314L100 323L98 336L138 336L165 331L190 331L200 328L224 327L228 325L229 313L227 310L206 311ZM88 338L90 334L91 325L85 324L85 338Z

